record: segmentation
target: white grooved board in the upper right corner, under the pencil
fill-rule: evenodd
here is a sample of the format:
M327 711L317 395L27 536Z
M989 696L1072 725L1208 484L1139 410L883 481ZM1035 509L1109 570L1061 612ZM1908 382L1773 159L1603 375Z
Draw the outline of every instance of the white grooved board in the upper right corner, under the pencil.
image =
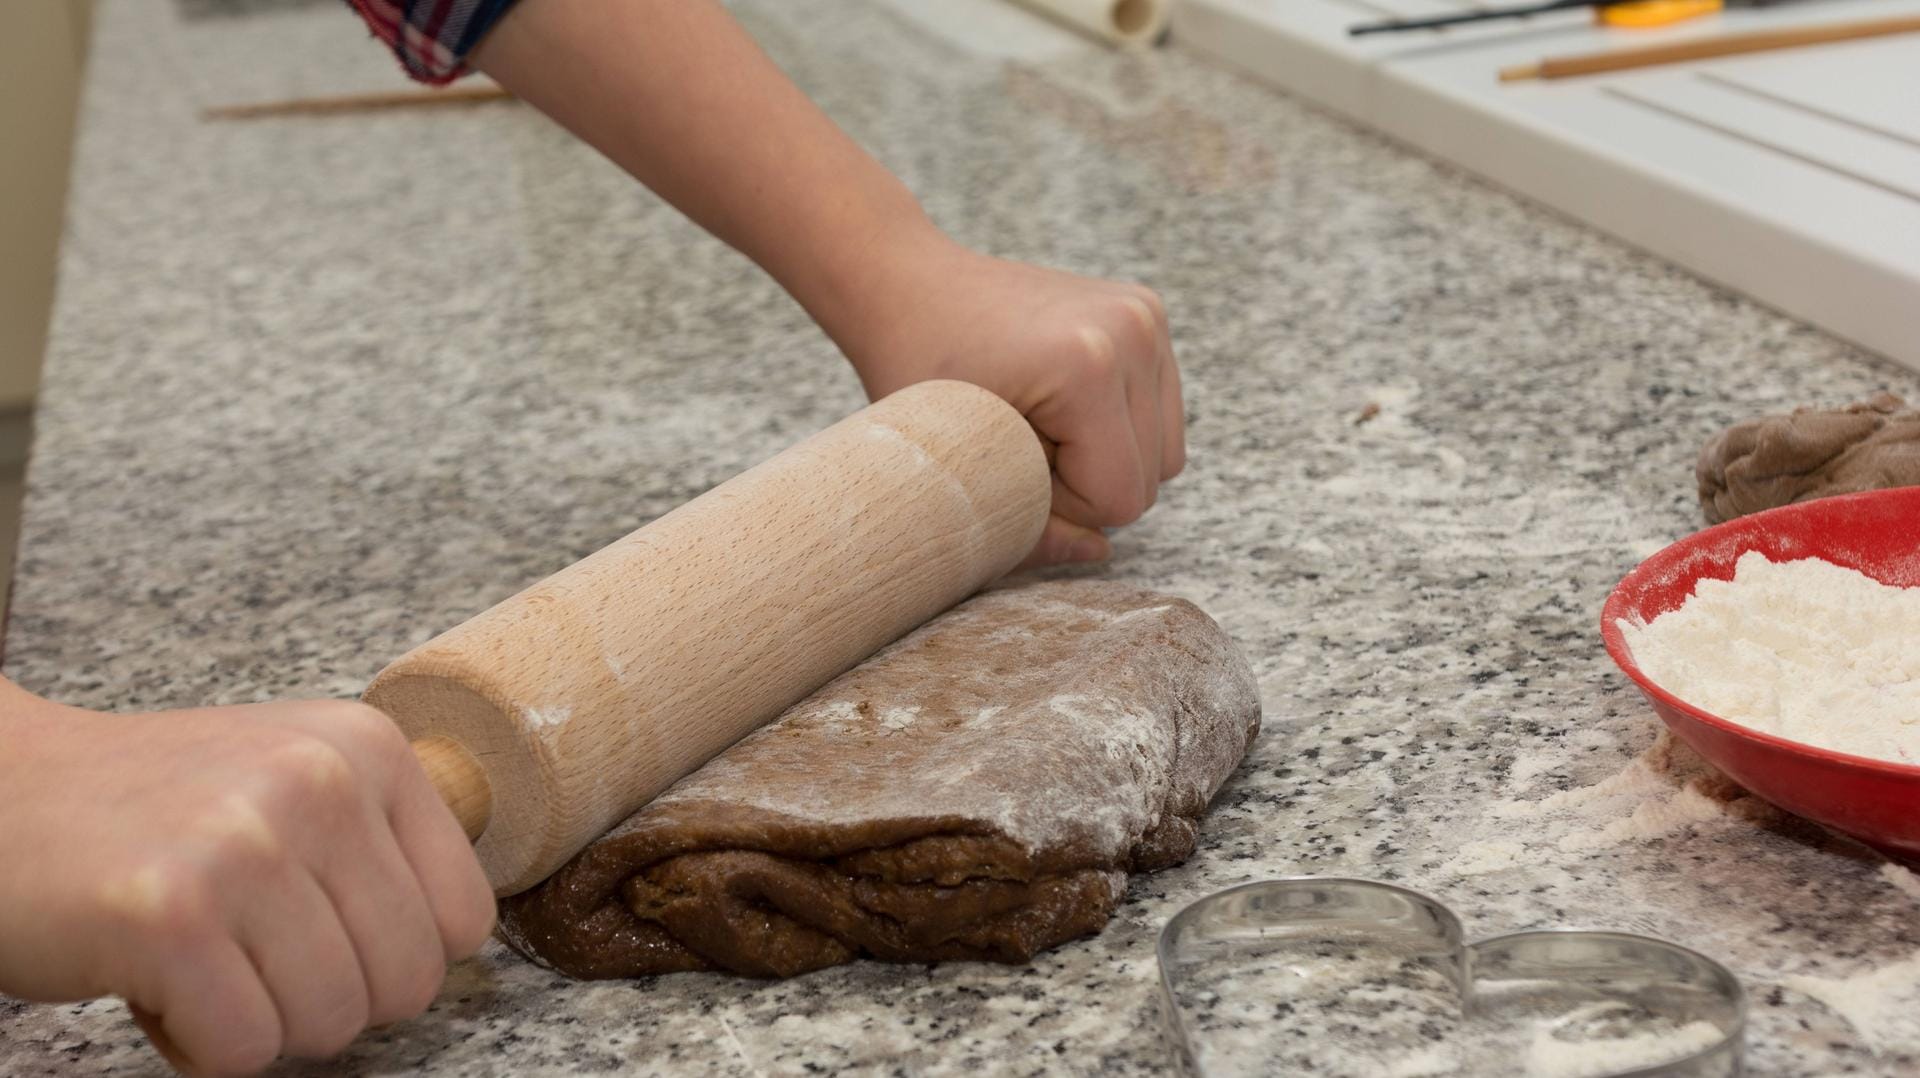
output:
M1465 0L1181 0L1183 46L1920 369L1920 35L1546 83L1548 56L1920 13L1738 10L1659 31L1567 12L1350 38Z

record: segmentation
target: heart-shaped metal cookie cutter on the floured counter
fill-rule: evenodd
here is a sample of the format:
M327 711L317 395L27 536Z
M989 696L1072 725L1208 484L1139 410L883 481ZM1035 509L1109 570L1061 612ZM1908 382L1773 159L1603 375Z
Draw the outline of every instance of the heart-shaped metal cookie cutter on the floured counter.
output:
M1160 930L1190 1074L1736 1078L1747 999L1720 963L1628 932L1469 943L1428 895L1342 876L1242 884Z

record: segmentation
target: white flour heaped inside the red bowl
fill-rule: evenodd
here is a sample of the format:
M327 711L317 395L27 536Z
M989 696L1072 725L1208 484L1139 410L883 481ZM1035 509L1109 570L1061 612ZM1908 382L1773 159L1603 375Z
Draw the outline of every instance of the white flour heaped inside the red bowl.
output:
M1747 551L1680 609L1620 621L1634 661L1680 699L1780 738L1920 765L1920 588Z

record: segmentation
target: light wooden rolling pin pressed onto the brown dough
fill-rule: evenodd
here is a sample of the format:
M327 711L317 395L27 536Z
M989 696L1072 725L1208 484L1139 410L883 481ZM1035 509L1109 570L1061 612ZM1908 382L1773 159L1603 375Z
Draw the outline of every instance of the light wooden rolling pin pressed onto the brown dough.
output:
M1018 565L1050 494L1012 405L922 382L401 655L367 703L522 892Z

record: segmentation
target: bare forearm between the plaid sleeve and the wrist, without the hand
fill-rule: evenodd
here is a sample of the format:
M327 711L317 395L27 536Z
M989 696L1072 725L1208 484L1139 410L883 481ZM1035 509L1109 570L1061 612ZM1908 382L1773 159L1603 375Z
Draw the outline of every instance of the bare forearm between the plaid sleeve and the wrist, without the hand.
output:
M712 0L520 0L472 61L739 248L841 336L920 204Z

